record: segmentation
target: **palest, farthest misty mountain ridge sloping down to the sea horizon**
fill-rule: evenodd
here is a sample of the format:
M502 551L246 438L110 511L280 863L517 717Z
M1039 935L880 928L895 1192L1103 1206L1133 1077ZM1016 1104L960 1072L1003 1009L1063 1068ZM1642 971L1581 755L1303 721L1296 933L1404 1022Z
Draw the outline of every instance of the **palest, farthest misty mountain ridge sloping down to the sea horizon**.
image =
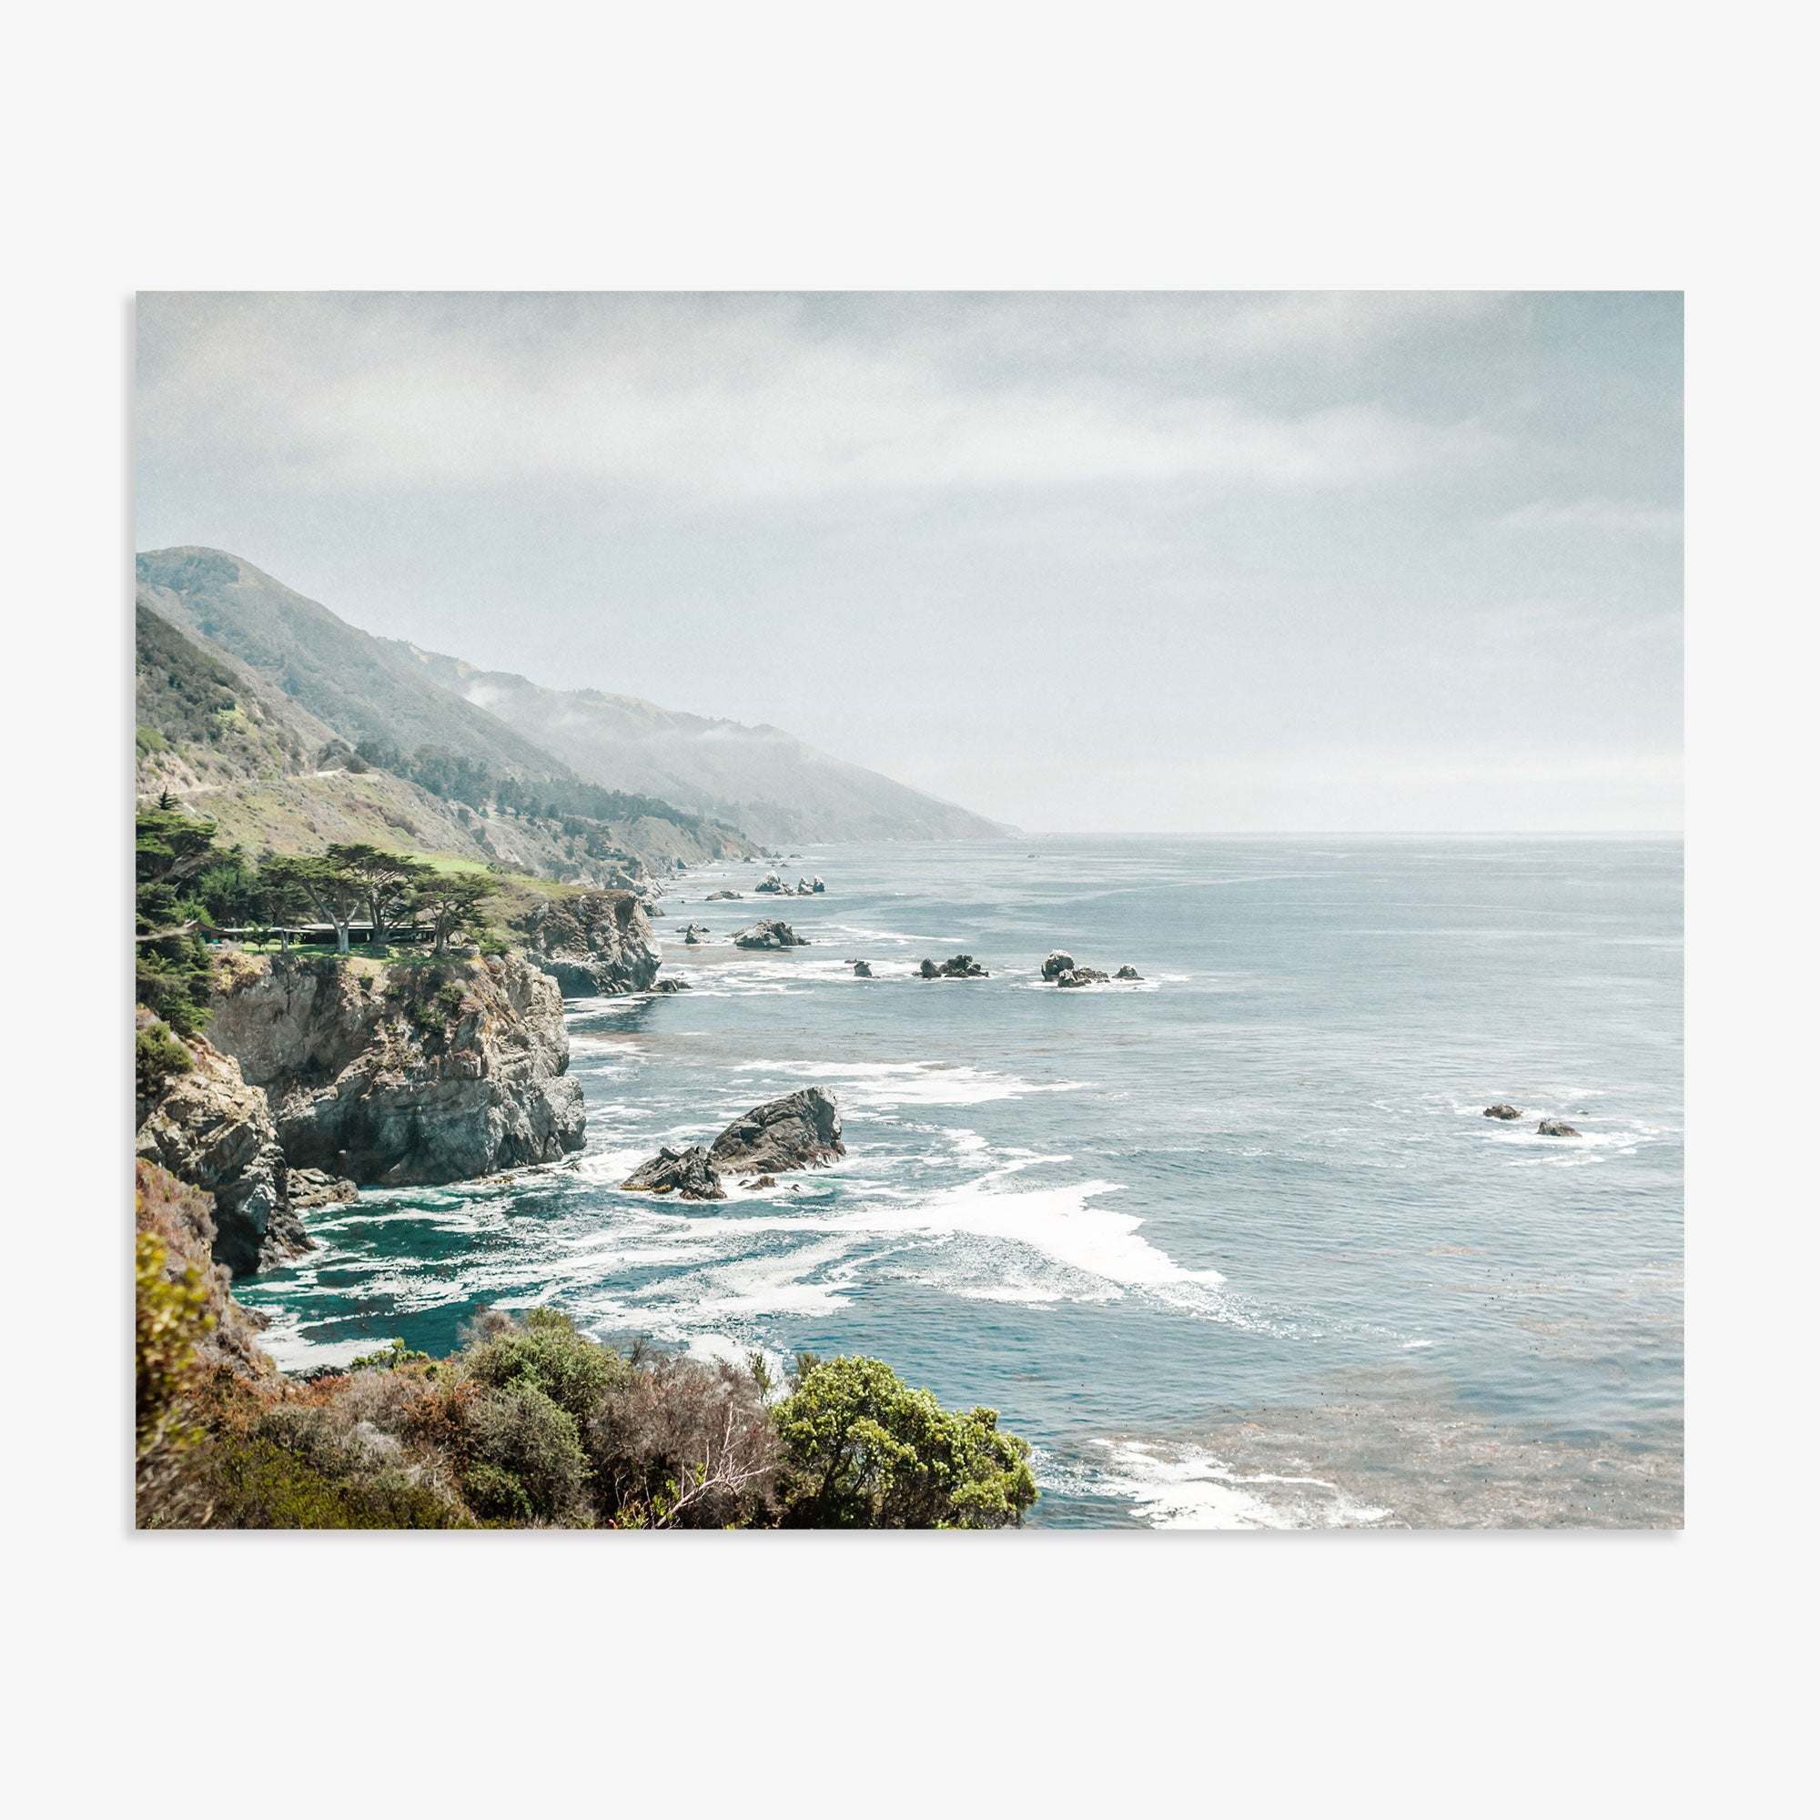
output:
M777 726L706 721L637 695L541 688L415 644L397 650L451 693L535 733L582 777L717 815L755 841L972 841L1008 832Z

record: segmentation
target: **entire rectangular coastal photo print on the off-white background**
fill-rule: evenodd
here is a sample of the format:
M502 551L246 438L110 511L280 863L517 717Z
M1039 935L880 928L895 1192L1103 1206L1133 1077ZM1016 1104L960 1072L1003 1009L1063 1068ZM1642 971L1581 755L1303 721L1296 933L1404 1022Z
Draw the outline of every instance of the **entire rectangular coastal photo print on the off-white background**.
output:
M1678 293L135 344L140 1527L1680 1527Z

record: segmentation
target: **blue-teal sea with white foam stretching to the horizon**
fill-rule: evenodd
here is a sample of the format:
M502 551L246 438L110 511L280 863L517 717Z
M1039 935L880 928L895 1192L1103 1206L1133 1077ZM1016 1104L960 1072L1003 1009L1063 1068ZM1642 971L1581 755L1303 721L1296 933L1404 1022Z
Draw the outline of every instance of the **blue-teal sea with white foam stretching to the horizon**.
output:
M446 1350L482 1303L553 1301L601 1338L874 1352L990 1403L1036 1443L1039 1523L1680 1522L1678 839L1025 837L784 870L826 895L679 881L659 930L712 930L666 941L688 994L571 1006L579 1159L364 1194L244 1285L280 1361ZM761 914L812 946L732 948ZM1145 977L1045 986L1052 946ZM957 950L992 977L910 977ZM839 1168L693 1208L615 1188L806 1083L841 1105Z

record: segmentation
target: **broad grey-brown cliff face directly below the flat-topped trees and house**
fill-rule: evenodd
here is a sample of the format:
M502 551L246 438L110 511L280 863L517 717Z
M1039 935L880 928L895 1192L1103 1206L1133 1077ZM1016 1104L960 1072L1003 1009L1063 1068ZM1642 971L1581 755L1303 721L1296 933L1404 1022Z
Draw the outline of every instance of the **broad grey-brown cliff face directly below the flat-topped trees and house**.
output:
M439 1183L581 1148L557 983L511 956L238 956L207 1034L264 1088L293 1167Z

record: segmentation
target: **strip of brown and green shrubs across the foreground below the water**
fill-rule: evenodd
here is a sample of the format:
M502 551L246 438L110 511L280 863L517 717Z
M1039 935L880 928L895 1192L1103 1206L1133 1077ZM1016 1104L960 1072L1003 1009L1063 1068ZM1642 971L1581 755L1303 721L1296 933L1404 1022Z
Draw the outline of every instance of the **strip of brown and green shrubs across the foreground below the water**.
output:
M482 1312L450 1358L402 1341L271 1370L207 1258L206 1201L140 1165L142 1527L1003 1529L1030 1449L877 1360L743 1365L601 1345L555 1309Z

